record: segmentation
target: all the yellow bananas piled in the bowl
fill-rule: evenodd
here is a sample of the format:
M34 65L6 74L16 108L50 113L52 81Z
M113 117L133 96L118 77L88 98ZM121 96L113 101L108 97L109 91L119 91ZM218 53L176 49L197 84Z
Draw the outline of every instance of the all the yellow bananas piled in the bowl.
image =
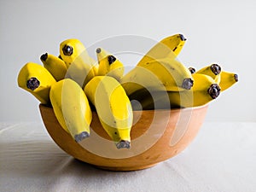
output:
M44 53L43 65L26 63L18 85L53 108L76 142L90 137L95 110L116 148L131 148L132 110L201 106L238 81L236 73L215 63L198 71L185 67L177 60L185 42L182 34L163 38L124 74L116 55L97 48L95 61L78 39L67 39L59 56Z

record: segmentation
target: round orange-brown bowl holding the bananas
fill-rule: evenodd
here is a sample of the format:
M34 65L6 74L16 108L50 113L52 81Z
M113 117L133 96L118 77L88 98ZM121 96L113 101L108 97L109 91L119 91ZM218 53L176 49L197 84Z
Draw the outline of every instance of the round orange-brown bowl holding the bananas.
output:
M208 105L172 110L134 111L131 148L117 149L92 113L90 137L80 143L61 128L52 108L39 105L50 137L67 154L91 165L112 171L134 171L179 154L201 128Z

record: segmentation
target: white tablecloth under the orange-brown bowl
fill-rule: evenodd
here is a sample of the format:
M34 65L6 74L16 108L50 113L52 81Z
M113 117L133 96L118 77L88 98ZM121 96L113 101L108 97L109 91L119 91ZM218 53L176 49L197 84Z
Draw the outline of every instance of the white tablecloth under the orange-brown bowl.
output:
M256 191L256 123L205 122L181 154L137 172L74 160L43 123L0 123L0 191Z

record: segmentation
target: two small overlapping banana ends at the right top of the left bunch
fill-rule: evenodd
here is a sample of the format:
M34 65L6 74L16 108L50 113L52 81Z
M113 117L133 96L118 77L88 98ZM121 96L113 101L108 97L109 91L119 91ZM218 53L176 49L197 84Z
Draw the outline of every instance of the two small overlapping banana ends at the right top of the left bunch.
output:
M125 67L114 55L109 54L102 48L97 48L96 54L99 63L97 75L108 75L117 80L123 76Z

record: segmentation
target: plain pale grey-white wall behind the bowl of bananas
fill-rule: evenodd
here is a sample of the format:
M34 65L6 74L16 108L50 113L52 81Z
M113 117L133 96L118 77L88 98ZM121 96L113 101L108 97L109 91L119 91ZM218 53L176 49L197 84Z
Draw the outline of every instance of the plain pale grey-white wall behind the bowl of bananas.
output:
M116 35L159 41L175 33L188 39L179 55L184 65L216 62L239 74L239 82L211 102L207 121L255 121L255 10L253 0L1 1L0 121L41 121L38 100L17 86L17 75L45 52L59 55L66 38L88 47Z

